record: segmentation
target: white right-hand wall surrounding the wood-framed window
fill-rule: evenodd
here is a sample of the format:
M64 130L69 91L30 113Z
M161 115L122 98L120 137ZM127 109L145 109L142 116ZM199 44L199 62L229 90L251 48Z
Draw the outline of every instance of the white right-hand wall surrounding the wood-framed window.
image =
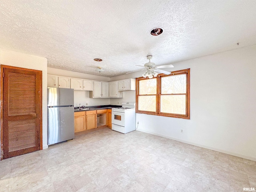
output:
M190 120L136 114L138 130L256 160L256 46L173 65L172 71L191 69ZM135 101L135 96L124 94L122 100L131 98ZM112 99L110 104L117 101Z

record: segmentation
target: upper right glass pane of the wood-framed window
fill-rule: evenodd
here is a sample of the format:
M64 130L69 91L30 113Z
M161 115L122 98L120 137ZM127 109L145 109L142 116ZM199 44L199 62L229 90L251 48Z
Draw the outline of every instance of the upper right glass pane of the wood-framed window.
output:
M186 93L186 74L161 78L161 94Z

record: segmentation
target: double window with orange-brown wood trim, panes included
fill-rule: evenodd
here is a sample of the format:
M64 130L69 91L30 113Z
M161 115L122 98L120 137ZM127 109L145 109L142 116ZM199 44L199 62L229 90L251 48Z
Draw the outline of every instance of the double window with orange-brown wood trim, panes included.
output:
M136 113L190 119L190 69L136 78Z

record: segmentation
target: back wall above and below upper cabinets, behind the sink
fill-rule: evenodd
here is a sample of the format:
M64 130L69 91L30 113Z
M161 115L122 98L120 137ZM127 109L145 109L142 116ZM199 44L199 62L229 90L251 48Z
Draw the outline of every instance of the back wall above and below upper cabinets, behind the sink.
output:
M109 77L97 76L97 75L90 75L84 74L79 72L67 71L62 69L55 69L48 67L47 70L49 75L59 75L59 76L66 76L66 77L73 77L73 78L82 78L82 79L90 79L90 80L97 80L97 81L105 81L109 82ZM78 107L79 104L81 106L95 106L95 105L108 105L110 104L109 98L90 98L89 91L74 91L74 106Z

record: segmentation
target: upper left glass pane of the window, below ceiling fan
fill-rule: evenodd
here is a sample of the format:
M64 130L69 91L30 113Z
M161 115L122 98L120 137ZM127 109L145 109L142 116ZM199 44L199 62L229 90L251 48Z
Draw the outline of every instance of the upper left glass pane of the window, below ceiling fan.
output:
M156 79L140 80L140 93L139 95L156 94Z

